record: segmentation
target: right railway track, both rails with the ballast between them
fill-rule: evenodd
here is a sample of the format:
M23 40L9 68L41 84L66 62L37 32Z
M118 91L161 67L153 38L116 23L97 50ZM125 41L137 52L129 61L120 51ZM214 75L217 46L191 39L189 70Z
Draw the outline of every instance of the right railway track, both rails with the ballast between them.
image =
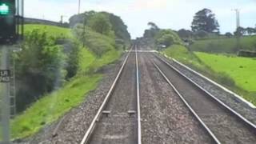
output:
M150 55L166 82L216 143L255 143L256 126L182 74L170 62Z

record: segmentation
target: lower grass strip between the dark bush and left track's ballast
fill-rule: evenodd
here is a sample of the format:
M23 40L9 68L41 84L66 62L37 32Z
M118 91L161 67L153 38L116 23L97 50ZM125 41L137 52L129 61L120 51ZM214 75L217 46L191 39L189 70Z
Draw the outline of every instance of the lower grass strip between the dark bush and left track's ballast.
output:
M46 124L58 120L74 106L84 101L85 94L94 90L100 74L74 78L62 89L48 94L11 122L12 138L24 138L40 130Z

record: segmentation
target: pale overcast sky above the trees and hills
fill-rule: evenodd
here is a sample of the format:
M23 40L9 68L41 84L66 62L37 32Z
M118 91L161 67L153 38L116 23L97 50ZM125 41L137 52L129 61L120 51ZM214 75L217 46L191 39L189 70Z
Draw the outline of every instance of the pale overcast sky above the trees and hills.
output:
M25 16L60 21L78 13L78 0L24 0ZM81 0L81 11L114 13L122 18L133 38L140 37L155 22L161 28L189 29L194 14L208 8L216 14L222 33L235 30L235 13L241 11L241 26L256 24L256 0Z

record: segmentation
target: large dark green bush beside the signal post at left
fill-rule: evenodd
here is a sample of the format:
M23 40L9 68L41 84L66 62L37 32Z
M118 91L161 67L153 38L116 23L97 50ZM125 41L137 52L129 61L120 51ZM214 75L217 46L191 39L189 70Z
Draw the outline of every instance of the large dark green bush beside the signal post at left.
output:
M65 74L64 54L62 46L55 44L56 39L42 30L26 33L22 51L15 58L18 111L61 85Z

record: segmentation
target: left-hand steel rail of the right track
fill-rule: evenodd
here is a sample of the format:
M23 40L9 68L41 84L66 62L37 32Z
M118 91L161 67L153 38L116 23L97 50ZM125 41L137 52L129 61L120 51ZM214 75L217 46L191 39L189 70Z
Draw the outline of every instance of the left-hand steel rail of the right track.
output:
M166 82L174 89L175 93L178 94L178 97L182 99L182 102L185 103L186 107L190 110L190 112L194 115L195 118L198 119L198 122L202 125L204 129L206 129L207 133L210 134L210 137L213 138L214 142L217 144L221 144L221 142L218 140L218 138L214 135L214 133L210 130L208 126L202 121L202 119L198 116L198 114L193 110L193 108L190 106L188 102L186 102L185 98L183 98L182 94L178 92L178 89L170 82L170 80L166 77L166 74L162 72L162 70L159 68L157 64L153 62L156 69L159 71L159 73L162 75L162 77L166 80Z

